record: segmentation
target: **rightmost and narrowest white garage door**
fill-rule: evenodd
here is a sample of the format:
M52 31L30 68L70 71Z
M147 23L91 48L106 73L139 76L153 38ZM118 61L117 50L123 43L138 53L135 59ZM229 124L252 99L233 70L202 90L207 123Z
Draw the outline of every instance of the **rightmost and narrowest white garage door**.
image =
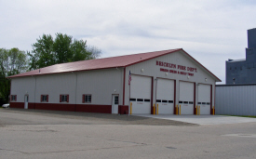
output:
M200 106L200 114L210 114L210 86L198 86L198 106Z

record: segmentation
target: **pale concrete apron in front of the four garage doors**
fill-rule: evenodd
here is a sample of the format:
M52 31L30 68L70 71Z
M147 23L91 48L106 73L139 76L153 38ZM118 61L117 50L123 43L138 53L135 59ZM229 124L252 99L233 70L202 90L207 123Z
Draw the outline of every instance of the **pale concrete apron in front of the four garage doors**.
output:
M191 123L196 125L224 125L224 124L237 124L237 123L250 123L256 122L256 118L249 117L236 117L224 115L153 115L153 114L133 114L143 117L152 117L158 119L167 119Z

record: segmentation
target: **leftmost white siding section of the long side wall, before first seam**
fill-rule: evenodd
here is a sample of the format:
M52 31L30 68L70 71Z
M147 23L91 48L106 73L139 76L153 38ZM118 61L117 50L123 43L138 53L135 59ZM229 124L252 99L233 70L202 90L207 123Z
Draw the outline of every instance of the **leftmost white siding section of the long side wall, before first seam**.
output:
M29 95L29 102L34 102L34 85L34 77L13 78L11 79L11 94L17 95L17 102L24 102L25 94Z

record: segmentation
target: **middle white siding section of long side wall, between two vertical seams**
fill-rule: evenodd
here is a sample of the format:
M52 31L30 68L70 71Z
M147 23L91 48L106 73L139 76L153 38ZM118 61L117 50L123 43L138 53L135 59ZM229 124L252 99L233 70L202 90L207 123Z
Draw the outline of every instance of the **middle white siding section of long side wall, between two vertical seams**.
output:
M69 95L69 104L75 103L75 73L57 73L36 76L35 102L48 95L48 103L60 103L60 95Z

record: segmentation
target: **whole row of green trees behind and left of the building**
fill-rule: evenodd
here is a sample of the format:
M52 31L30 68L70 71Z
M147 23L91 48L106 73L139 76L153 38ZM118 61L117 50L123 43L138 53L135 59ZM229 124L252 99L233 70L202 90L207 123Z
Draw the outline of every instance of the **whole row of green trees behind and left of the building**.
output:
M31 51L19 48L0 48L0 104L6 103L10 94L7 76L36 70L54 64L100 58L101 49L87 46L87 41L74 39L71 35L43 34L36 39Z

